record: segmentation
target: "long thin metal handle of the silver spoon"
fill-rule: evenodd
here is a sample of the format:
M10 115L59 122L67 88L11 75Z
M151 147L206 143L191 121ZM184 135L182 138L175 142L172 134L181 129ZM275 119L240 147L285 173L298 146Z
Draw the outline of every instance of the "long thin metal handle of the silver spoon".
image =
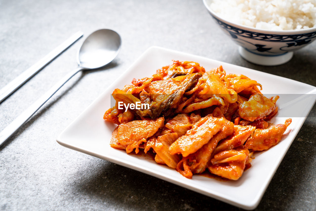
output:
M24 112L22 112L15 120L13 120L7 127L0 132L0 145L3 144L12 134L17 131L31 116L40 109L48 99L50 99L53 94L55 94L60 87L62 87L72 76L74 76L79 71L85 68L78 67L77 69L71 71L69 74L64 76L59 80L51 89L49 89L40 99L36 100L30 107L28 107Z

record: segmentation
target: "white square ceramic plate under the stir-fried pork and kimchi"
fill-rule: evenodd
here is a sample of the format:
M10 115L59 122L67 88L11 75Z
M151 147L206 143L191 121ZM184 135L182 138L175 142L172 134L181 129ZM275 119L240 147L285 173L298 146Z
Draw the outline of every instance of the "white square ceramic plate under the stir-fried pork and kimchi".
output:
M126 154L125 150L110 147L111 134L117 125L103 120L104 112L110 108L111 94L115 88L123 88L125 84L131 84L133 78L149 77L155 74L157 69L172 64L172 60L195 61L200 63L206 71L222 65L227 73L244 74L257 80L263 86L262 92L267 95L304 94L312 93L316 89L314 86L245 67L165 48L151 47L59 135L57 142L70 149L141 171L240 208L256 208L277 167L312 109L316 100L315 94L307 99L294 101L288 106L299 106L303 113L299 115L300 117L296 115L292 118L293 121L279 144L255 155L252 167L246 170L238 181L221 182L199 175L187 179L176 170L159 165L152 159ZM282 99L282 96L287 95L281 95L278 100L279 104L277 104L279 106L280 102L288 101ZM271 122L284 124L288 116L284 116L285 113L282 111L285 111L286 108L280 109Z

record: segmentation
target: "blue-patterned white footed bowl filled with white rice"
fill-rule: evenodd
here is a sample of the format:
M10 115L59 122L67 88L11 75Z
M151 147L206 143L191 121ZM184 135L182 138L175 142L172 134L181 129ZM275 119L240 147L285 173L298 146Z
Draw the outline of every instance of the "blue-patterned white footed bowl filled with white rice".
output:
M203 0L240 55L255 64L288 62L316 39L316 0Z

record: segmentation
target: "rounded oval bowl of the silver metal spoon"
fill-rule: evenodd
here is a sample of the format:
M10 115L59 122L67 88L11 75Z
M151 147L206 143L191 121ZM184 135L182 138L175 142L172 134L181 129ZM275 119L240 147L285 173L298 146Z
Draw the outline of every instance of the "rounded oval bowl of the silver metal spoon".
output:
M96 69L110 63L121 48L121 37L111 29L100 29L89 35L78 50L80 67Z

